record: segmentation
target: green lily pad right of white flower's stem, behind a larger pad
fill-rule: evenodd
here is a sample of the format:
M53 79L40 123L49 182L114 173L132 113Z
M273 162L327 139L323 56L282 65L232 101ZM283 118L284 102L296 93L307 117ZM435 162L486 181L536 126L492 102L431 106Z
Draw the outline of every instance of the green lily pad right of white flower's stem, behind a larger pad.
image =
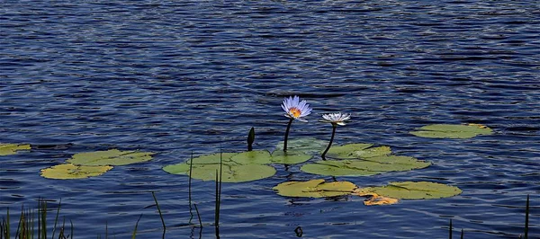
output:
M328 157L333 158L368 158L392 154L389 146L370 147L371 144L349 144L330 147Z

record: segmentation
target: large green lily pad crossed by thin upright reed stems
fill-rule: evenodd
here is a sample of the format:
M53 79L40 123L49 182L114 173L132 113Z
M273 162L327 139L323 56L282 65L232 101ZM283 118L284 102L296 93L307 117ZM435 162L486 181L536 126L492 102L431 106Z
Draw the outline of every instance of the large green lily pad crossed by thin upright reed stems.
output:
M189 164L172 164L163 168L166 173L189 175ZM219 172L220 164L193 164L192 178L202 181L215 181L216 170ZM256 181L271 177L275 174L275 168L264 164L223 164L221 181L242 182Z

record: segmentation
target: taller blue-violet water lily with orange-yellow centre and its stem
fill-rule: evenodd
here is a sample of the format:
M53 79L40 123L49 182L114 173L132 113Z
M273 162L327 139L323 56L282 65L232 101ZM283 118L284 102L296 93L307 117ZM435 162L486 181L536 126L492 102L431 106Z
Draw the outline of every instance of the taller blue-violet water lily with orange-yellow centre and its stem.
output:
M287 151L287 138L289 138L289 130L291 129L291 124L293 120L301 120L302 122L307 122L308 120L302 119L305 116L311 114L311 108L308 102L300 101L300 97L294 95L294 97L285 98L282 103L282 109L285 111L285 117L289 118L289 124L287 125L287 130L285 130L284 138L284 152Z

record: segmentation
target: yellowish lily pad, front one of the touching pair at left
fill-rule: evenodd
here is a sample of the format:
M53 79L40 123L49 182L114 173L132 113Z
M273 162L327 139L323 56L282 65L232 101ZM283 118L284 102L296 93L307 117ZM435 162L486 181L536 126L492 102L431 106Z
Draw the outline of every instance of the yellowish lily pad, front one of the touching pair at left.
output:
M41 170L41 176L48 179L85 179L99 176L111 170L112 166L85 166L75 164L58 164Z

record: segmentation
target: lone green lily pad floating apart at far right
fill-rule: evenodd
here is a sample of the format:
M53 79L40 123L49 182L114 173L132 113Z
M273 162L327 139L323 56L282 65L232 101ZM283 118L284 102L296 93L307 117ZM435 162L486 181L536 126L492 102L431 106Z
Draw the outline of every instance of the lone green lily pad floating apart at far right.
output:
M410 131L410 134L418 137L470 138L479 135L491 135L493 130L478 124L434 124L418 128L416 131Z

